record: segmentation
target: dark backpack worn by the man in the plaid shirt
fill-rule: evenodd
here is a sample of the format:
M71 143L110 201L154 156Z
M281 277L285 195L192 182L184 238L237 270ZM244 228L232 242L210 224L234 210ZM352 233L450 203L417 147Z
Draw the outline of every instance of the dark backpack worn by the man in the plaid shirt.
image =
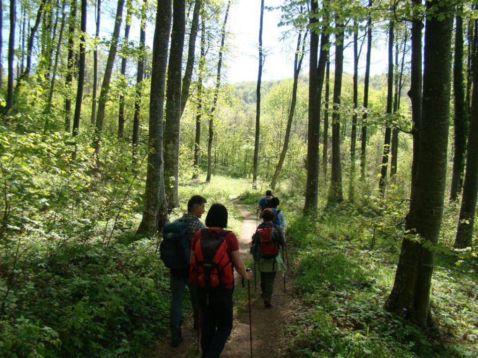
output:
M195 219L192 219L195 220ZM159 246L160 258L168 269L187 269L191 258L191 248L188 240L188 224L175 221L166 223L163 227L163 241Z

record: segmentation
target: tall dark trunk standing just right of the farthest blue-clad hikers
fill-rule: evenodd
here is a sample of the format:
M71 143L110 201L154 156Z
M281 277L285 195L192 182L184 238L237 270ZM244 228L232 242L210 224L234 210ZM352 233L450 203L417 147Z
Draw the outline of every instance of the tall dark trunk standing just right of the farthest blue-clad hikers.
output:
M318 5L315 0L310 2L311 25L317 23L316 14ZM329 1L323 2L323 12L328 13ZM309 119L307 125L307 184L305 189L304 211L317 211L317 195L319 190L319 141L320 141L320 107L322 100L322 86L324 85L325 66L328 59L329 35L326 31L328 17L324 15L322 31L319 36L314 30L310 32L310 64L309 64ZM316 27L316 26L315 26ZM316 30L317 31L317 27Z

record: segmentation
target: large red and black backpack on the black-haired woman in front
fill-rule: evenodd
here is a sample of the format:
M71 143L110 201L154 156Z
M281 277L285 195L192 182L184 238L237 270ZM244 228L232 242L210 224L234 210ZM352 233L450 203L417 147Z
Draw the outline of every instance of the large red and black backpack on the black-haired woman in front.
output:
M228 255L225 236L228 230L217 234L208 229L201 230L201 238L194 247L189 279L199 287L224 287L234 282L232 261Z

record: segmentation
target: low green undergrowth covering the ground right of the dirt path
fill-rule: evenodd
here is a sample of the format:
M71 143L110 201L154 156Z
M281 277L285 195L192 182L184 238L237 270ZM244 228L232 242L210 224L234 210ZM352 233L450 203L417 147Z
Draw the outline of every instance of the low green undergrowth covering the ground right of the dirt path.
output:
M300 297L287 323L288 357L477 356L476 261L457 266L455 257L438 255L431 291L436 328L424 334L383 309L400 252L394 225L373 230L364 206L325 208L317 216L303 216L297 205L284 210Z

